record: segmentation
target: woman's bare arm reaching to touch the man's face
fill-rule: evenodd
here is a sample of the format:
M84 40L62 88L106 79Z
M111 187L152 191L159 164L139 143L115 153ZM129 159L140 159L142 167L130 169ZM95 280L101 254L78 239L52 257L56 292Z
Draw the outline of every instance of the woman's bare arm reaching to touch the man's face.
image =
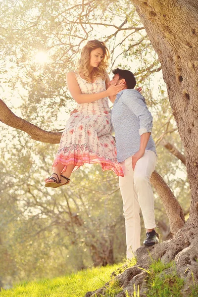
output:
M82 94L80 87L78 85L78 82L77 82L76 75L73 71L69 71L67 73L67 86L68 86L71 96L79 104L80 103L89 103L89 102L97 101L97 100L102 99L107 96L116 95L124 87L124 85L111 86L108 88L108 90L100 92L100 93Z

